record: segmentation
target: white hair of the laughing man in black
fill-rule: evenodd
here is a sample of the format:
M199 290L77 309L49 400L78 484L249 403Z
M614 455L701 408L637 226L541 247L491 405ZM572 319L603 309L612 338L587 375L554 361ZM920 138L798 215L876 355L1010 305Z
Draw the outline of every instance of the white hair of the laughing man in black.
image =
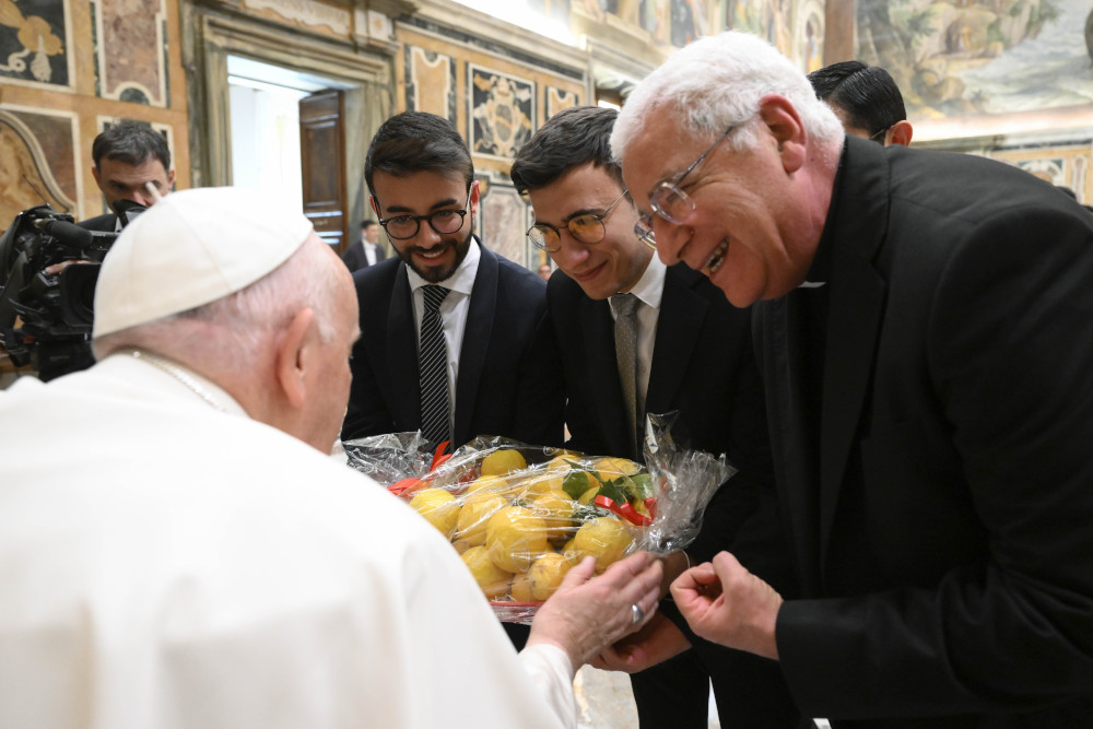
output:
M611 132L612 153L621 160L658 107L668 107L681 130L694 137L714 137L741 124L725 143L753 148L759 143L754 115L767 94L789 99L819 146L842 142L842 125L802 71L765 40L729 31L681 48L634 89Z

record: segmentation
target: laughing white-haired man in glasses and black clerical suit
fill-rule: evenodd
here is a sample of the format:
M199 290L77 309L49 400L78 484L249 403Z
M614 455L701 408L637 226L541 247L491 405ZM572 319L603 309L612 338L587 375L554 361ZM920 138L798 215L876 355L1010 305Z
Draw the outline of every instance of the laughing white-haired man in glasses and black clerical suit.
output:
M980 157L844 137L754 36L671 57L612 134L660 257L755 304L803 599L729 553L672 593L834 727L1093 717L1093 220ZM685 646L643 636L634 670ZM731 717L722 717L731 721Z

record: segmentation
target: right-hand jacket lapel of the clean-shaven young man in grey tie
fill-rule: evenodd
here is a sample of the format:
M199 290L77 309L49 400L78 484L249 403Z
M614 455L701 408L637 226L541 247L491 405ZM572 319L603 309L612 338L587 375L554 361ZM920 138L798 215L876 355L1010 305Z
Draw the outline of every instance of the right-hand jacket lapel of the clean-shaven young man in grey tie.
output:
M694 293L703 274L677 263L665 272L665 292L657 317L657 339L653 348L653 369L645 411L663 413L679 402L677 395L698 343L709 302ZM645 418L645 413L640 413Z

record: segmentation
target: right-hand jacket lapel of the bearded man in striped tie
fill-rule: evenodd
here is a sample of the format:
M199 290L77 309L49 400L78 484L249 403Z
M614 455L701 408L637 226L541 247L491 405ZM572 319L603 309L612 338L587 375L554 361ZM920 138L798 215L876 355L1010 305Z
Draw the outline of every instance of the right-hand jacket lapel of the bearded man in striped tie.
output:
M471 433L471 416L478 401L479 384L485 366L486 352L493 334L493 320L497 310L497 257L479 243L482 257L479 259L474 286L471 289L467 326L459 348L459 374L456 381L456 420L453 439L456 445L466 443L477 433Z

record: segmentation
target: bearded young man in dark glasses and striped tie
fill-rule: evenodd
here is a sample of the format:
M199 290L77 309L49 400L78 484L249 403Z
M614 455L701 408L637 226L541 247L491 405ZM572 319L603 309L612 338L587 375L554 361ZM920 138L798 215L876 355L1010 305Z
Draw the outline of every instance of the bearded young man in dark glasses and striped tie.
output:
M399 114L372 140L365 178L398 257L354 274L361 339L342 438L561 439L556 364L537 349L545 284L471 233L480 191L459 133L436 115Z

